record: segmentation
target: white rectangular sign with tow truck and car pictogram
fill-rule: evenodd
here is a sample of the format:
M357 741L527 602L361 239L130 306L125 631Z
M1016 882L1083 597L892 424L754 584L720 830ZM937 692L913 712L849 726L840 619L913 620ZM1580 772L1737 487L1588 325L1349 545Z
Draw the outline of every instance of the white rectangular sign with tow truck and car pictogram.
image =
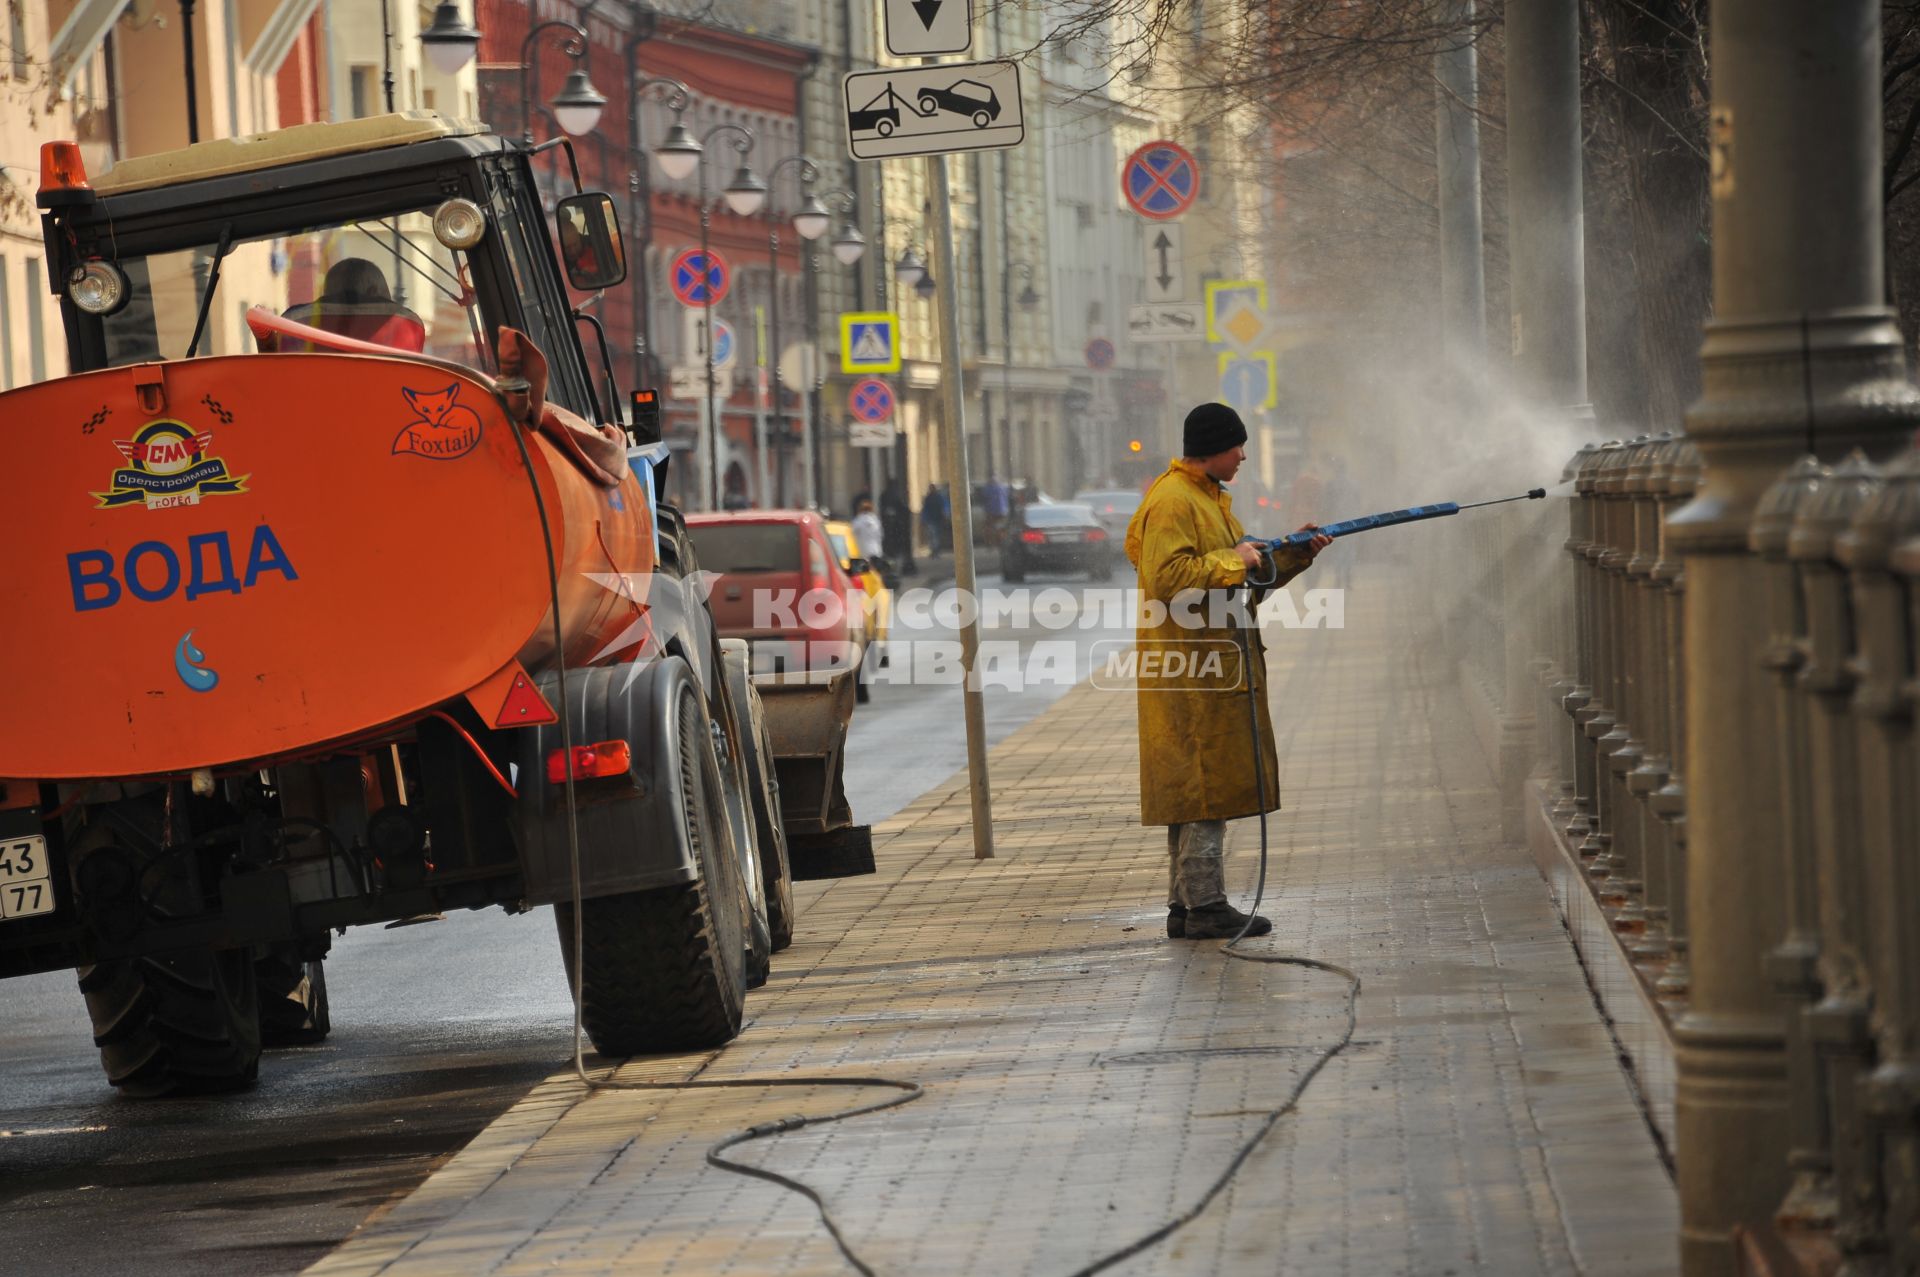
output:
M1000 150L1027 136L1012 61L852 71L841 96L854 159Z

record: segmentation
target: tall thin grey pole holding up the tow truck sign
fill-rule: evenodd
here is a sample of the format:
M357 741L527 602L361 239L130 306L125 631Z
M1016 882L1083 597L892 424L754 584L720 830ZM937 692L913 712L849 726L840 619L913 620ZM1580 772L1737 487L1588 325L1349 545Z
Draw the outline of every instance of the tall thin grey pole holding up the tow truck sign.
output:
M962 597L979 597L973 574L973 484L966 469L966 401L960 396L960 280L954 267L952 192L947 184L947 156L927 156L927 177L933 186L933 248L939 255L939 315L941 315L941 399L947 415L947 470L952 499L954 586ZM973 664L979 659L979 620L962 613L960 668L966 684L960 689L966 709L966 770L973 801L973 858L993 858L993 797L987 787L987 707L981 701Z

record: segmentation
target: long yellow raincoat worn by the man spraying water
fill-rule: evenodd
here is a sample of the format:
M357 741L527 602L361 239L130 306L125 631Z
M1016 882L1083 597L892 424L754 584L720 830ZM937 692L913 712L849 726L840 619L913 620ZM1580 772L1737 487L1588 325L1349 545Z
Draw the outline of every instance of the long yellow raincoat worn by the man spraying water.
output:
M1225 624L1208 628L1204 622L1213 616L1208 616L1202 595L1181 597L1183 591L1227 590L1246 580L1246 565L1233 551L1244 534L1233 517L1233 497L1185 459L1154 480L1127 524L1127 561L1140 586L1135 643L1140 824L1233 820L1281 807L1260 630L1248 630L1246 639L1252 643L1254 712L1260 718L1263 808L1254 774L1246 682L1240 678L1240 626L1219 616ZM1290 582L1311 561L1306 551L1275 551L1277 584ZM1156 609L1156 601L1167 607ZM1188 611L1185 620L1183 611Z

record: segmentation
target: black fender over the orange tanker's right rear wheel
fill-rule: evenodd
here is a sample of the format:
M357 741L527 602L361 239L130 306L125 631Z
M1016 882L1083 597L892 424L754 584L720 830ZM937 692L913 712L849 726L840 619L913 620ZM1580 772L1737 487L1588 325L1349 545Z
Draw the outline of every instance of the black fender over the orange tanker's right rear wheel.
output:
M559 676L549 672L536 682L547 703L559 707ZM684 682L691 684L693 674L678 657L649 661L637 670L609 664L566 676L572 743L626 741L632 749L632 766L620 776L574 782L582 899L699 879L682 837L680 735L672 718L676 687ZM518 735L515 837L526 903L555 904L572 899L566 785L547 780L547 759L561 749L561 728L520 728Z

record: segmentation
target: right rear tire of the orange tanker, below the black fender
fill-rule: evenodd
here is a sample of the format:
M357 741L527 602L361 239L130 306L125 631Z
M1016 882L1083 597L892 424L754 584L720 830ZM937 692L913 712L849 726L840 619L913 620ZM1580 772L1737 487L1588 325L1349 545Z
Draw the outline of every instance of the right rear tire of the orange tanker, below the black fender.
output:
M747 889L726 837L726 795L707 716L680 684L672 722L680 759L680 837L697 881L555 904L566 976L582 933L580 1010L605 1056L705 1050L739 1033L747 997Z

